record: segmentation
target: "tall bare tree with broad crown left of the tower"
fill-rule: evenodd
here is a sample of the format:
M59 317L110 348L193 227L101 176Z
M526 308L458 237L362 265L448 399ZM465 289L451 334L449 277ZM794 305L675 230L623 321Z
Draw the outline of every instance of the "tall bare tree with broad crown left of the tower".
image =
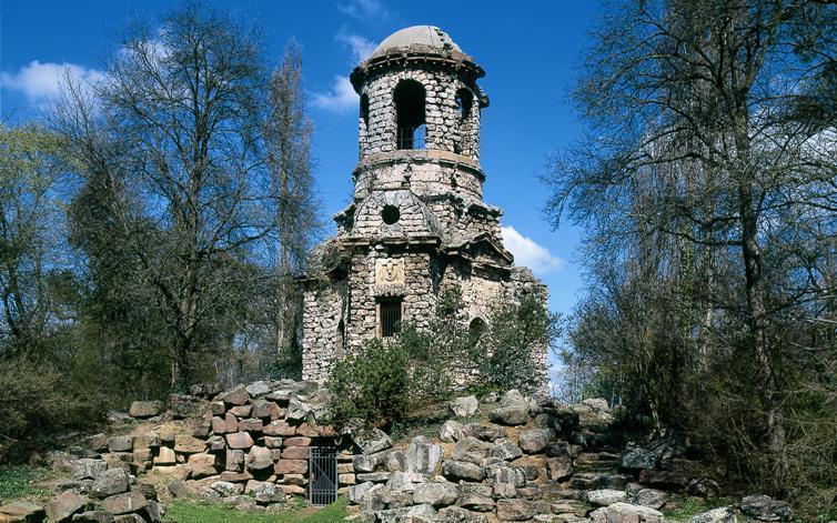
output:
M248 302L276 230L262 148L268 99L260 41L230 16L186 3L132 27L91 95L68 90L54 121L102 202L124 270L153 289L171 333L171 383ZM90 191L88 194L90 194ZM101 191L104 191L102 193Z

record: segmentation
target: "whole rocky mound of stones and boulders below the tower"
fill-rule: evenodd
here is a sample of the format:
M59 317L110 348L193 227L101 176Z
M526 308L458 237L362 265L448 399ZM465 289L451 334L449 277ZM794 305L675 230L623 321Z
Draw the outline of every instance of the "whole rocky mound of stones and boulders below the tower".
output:
M171 497L281 512L288 496L307 495L312 445L336 446L339 494L363 522L656 523L675 494L720 494L674 439L618 445L604 400L457 398L441 428L395 442L360 424L335 432L327 405L327 391L293 381L134 402L108 432L50 455L65 474L50 485L60 494L2 505L0 523L157 522ZM689 521L790 517L785 502L753 495Z

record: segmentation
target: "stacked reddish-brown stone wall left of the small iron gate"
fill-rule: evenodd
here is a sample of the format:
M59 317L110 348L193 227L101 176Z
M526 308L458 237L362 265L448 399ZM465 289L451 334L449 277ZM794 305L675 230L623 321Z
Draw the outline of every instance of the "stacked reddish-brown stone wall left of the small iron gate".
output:
M191 395L134 402L131 414L142 431L93 442L110 467L157 473L186 482L206 499L262 493L260 505L284 495L306 495L309 451L317 441L334 443L334 432L317 424L327 392L309 382L255 382L221 391L195 385ZM272 493L272 494L271 494ZM263 499L264 502L259 501Z

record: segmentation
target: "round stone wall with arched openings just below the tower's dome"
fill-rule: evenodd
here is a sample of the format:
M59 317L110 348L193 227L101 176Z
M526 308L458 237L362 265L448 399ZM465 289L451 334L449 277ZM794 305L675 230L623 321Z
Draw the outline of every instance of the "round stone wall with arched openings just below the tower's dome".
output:
M426 148L454 152L454 143L458 143L461 154L465 155L467 152L470 158L478 160L480 103L477 92L474 92L476 88L465 84L455 71L412 67L390 69L367 79L362 95L369 97L369 117L364 119L362 114L359 122L361 157L397 149L393 93L402 80L415 80L424 87ZM461 122L456 105L456 92L460 89L474 92L474 103L465 122Z

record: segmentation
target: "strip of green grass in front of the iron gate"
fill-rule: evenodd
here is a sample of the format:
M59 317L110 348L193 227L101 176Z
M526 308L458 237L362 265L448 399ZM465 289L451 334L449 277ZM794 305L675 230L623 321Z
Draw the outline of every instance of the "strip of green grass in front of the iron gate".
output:
M172 500L167 504L163 521L167 523L335 523L343 521L347 515L345 500L337 500L322 509L291 500L288 503L288 511L279 514L241 512L230 505L196 500Z

